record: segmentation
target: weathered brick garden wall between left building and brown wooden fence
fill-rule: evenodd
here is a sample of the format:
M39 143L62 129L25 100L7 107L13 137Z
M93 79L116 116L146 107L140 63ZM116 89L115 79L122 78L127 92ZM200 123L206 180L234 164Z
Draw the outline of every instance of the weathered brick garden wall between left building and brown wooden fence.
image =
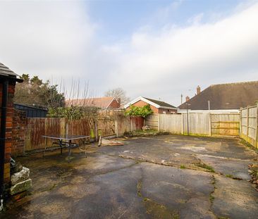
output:
M27 125L26 112L14 109L12 132L12 157L24 154L25 129Z

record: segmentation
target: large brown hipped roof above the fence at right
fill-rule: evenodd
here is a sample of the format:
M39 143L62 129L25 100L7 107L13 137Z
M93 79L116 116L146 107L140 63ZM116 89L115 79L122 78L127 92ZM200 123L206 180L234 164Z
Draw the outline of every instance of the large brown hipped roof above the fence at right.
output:
M189 101L178 106L191 110L208 110L208 101L211 110L239 109L255 104L258 100L258 81L238 82L220 85L211 85Z

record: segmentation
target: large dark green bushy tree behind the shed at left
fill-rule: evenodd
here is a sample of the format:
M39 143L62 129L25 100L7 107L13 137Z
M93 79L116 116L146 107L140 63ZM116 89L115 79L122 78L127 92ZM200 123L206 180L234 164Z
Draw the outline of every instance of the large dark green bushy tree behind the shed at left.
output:
M57 89L58 85L50 85L49 80L43 82L38 76L23 74L23 83L16 85L14 102L35 106L57 108L65 105L65 97Z

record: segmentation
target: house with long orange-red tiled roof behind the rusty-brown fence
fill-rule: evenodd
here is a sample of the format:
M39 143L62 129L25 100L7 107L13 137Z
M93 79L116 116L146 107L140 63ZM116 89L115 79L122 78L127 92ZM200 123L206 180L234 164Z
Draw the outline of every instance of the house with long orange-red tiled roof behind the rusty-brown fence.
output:
M111 96L88 99L68 99L66 100L66 106L96 107L102 110L108 110L120 108L120 99Z

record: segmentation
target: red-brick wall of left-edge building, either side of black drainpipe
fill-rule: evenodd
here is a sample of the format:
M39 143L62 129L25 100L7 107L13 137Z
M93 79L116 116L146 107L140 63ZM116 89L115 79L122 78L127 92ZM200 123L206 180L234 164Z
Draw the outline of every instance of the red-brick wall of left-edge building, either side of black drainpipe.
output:
M13 96L16 82L9 82L8 86L8 102L6 110L6 144L4 155L4 182L10 182L10 161L12 147L12 128L13 128ZM0 104L2 100L2 84L0 84Z

